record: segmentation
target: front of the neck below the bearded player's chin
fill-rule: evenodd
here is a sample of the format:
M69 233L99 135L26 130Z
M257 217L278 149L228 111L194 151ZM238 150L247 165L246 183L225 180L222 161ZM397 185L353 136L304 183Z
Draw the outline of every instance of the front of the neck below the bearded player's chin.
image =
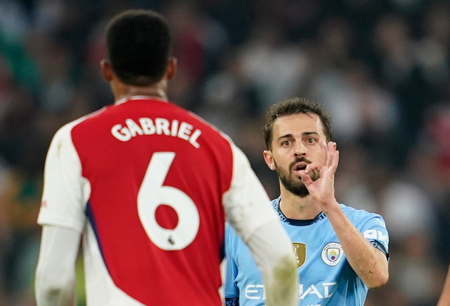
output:
M310 220L322 212L319 203L311 195L302 198L286 190L280 183L280 210L288 219Z

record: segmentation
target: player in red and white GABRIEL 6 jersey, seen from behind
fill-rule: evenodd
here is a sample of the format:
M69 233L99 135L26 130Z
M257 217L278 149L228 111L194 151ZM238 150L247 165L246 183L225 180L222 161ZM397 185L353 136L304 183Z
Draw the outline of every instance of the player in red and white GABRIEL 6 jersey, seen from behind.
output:
M247 158L167 100L162 16L107 26L115 103L63 126L45 162L37 306L74 305L83 236L88 306L219 306L225 218L253 252L268 306L297 305L292 246Z

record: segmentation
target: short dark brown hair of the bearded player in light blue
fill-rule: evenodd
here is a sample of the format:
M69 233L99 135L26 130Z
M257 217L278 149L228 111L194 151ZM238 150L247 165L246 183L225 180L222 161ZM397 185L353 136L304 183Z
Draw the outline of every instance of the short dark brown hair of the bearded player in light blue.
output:
M313 113L319 116L324 134L327 141L331 141L331 116L319 104L311 102L303 98L292 98L272 105L266 114L266 125L262 129L264 133L264 140L268 150L272 148L272 132L275 120L279 117L298 114L298 113Z

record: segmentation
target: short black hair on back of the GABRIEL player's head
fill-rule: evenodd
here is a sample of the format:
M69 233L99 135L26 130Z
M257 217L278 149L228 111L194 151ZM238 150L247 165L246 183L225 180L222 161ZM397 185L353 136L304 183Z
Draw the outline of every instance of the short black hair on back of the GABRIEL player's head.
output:
M106 26L106 52L112 70L125 84L157 83L166 72L172 49L169 25L152 10L130 9Z

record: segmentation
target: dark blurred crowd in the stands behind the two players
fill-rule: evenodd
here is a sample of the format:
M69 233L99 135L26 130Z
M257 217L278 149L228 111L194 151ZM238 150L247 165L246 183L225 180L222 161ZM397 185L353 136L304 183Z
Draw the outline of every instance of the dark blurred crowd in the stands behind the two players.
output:
M365 305L435 305L450 258L450 1L1 0L0 306L35 305L46 150L113 102L103 29L128 8L166 16L170 99L234 139L271 198L264 113L294 96L324 104L338 201L381 214L390 234L389 282ZM77 274L82 293L81 260Z

